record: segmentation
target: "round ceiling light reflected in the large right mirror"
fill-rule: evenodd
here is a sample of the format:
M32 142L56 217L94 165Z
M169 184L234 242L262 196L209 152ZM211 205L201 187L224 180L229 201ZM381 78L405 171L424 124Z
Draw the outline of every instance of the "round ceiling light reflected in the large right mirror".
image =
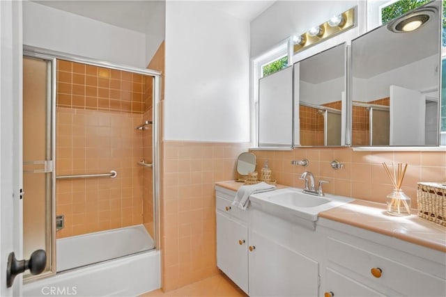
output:
M410 13L406 16L396 19L394 22L390 22L387 25L387 29L394 33L406 33L417 30L433 17L436 13L433 8L425 8L417 10L414 13Z

